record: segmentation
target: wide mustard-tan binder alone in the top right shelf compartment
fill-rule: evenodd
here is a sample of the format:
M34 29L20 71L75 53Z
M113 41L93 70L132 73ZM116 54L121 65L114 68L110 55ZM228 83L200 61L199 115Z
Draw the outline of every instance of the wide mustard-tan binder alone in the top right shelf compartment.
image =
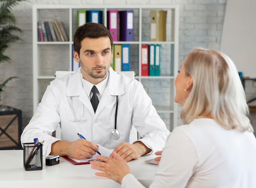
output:
M167 11L150 11L150 41L166 41Z

